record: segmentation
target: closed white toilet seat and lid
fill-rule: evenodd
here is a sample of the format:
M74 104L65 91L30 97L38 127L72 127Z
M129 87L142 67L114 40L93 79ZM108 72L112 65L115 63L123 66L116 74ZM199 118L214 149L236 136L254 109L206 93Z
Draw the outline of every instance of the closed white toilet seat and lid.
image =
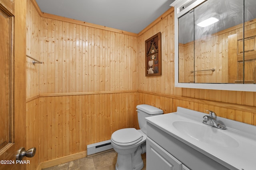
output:
M142 134L135 128L125 128L115 131L111 136L111 140L119 146L130 146L140 142L142 137Z

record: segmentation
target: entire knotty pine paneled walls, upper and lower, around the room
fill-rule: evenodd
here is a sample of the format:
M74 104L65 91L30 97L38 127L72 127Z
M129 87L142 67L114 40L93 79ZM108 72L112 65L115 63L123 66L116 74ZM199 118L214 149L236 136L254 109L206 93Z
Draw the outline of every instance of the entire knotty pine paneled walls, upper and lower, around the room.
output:
M27 17L27 54L43 61L27 63L27 143L38 147L28 169L86 151L86 145L110 139L117 129L138 128L138 104L164 113L177 106L212 109L218 116L256 125L255 92L174 86L172 8L138 36L42 17L30 0ZM162 76L146 77L144 41L158 32Z

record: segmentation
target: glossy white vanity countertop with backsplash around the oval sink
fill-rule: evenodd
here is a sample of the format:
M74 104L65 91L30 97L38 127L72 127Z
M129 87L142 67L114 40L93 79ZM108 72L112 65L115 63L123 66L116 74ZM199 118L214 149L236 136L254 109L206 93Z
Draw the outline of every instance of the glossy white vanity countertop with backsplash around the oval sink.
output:
M226 125L226 129L218 129L202 123L206 113L178 107L177 112L147 117L147 121L162 131L172 135L186 145L198 150L213 160L237 170L256 170L256 126L218 117L218 121ZM218 113L217 113L218 115ZM182 133L174 127L175 121L188 121L200 124L198 127L208 131L224 134L236 141L234 145L209 144ZM174 124L173 124L174 123ZM177 123L177 122L176 122ZM201 126L202 125L202 126ZM192 127L191 127L192 128ZM198 129L193 129L198 131ZM213 135L214 135L213 133ZM203 134L202 134L203 135ZM214 138L218 140L218 138ZM227 138L228 139L228 138ZM232 140L233 141L233 140ZM214 141L212 141L214 143ZM225 141L227 144L230 141Z

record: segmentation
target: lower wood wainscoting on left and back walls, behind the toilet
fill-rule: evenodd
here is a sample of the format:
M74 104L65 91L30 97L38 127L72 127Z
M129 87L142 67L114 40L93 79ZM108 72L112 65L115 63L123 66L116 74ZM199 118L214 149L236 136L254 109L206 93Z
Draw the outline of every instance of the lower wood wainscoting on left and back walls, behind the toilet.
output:
M138 128L138 92L42 94L27 101L27 145L38 148L33 164L86 151L118 129ZM36 160L35 160L36 159ZM44 167L45 168L45 167Z

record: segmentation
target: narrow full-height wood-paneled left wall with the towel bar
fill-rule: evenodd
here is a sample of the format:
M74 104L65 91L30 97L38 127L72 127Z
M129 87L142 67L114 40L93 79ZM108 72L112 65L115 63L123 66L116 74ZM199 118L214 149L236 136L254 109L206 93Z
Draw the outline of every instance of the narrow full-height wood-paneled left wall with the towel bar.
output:
M34 8L30 0L27 0L26 17L26 54L39 60L39 33L40 15ZM38 167L39 155L41 154L39 145L39 64L32 64L32 59L26 57L26 149L36 147L36 154L27 165L28 170L35 170ZM32 99L34 100L32 100ZM30 100L29 100L30 99Z

